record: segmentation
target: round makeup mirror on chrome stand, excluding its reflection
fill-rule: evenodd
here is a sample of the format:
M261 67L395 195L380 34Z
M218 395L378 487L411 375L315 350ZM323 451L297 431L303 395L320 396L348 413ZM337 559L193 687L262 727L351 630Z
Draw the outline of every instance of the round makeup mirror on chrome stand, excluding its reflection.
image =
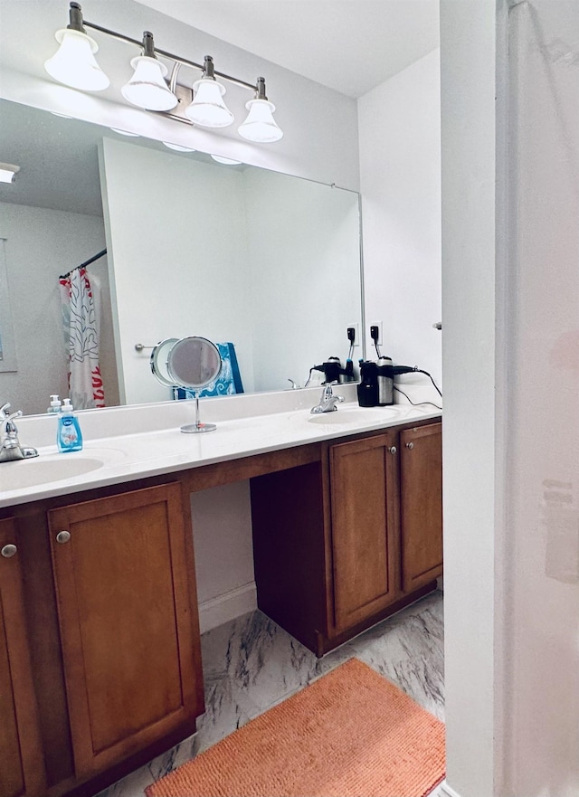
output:
M195 423L181 427L181 432L214 432L214 423L199 421L199 391L217 379L222 359L219 349L206 337L183 337L171 346L166 368L172 384L195 392Z

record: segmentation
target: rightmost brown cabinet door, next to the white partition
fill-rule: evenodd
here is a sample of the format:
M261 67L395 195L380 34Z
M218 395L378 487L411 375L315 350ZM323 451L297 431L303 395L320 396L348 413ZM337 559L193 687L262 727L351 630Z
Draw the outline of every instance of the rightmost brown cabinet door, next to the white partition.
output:
M403 590L442 574L442 424L400 433Z

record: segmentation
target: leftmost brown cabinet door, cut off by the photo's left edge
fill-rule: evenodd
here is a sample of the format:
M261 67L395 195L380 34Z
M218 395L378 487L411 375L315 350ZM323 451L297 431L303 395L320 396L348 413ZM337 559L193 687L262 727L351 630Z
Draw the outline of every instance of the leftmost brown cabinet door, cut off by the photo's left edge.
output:
M45 786L12 519L0 520L0 550L0 794L20 797L43 794Z

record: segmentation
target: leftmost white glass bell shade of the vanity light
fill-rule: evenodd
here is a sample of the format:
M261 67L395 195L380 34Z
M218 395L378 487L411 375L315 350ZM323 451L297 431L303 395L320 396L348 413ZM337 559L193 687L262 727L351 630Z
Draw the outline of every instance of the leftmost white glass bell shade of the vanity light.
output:
M85 91L101 91L109 86L109 78L94 57L99 50L94 39L68 28L54 33L54 38L61 46L44 62L44 69L55 81Z

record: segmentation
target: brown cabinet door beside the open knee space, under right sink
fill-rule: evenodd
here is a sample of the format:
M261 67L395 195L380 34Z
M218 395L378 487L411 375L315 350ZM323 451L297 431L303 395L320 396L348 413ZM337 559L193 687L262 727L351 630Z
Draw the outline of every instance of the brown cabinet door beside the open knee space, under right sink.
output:
M334 612L337 632L397 596L395 434L330 449Z

